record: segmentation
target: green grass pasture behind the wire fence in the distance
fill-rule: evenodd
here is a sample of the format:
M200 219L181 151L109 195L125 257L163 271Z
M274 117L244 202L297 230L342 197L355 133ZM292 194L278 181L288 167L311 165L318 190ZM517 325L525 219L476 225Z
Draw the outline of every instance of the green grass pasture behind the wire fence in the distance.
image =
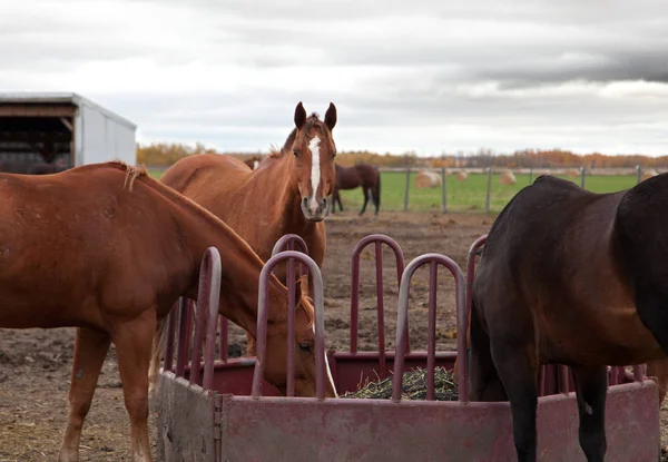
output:
M160 178L159 170L151 170L150 175ZM383 171L381 177L381 210L403 210L404 191L406 184L406 174L404 171ZM441 186L435 188L415 189L416 171L411 173L409 185L409 210L411 212L440 212L442 208ZM571 178L556 175L569 179L577 185L580 184L580 177ZM499 213L521 188L529 185L529 175L515 174L517 183L514 185L501 185L499 183L500 174L492 175L492 185L490 194L490 212ZM536 179L537 174L532 176ZM595 193L613 193L621 189L628 189L636 185L636 175L616 175L616 176L587 176L584 188ZM485 212L485 197L488 187L487 174L469 174L464 181L458 181L454 175L448 175L445 180L448 212ZM344 210L360 210L362 208L362 188L341 191ZM373 210L373 204L370 200L367 210ZM373 212L372 212L373 213Z

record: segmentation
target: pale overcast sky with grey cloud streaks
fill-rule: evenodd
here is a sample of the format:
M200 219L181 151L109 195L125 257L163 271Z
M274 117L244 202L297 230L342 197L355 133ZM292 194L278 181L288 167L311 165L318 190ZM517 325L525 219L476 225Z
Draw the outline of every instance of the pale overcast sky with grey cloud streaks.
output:
M2 1L0 91L76 91L137 140L282 145L338 109L340 150L668 154L656 1Z

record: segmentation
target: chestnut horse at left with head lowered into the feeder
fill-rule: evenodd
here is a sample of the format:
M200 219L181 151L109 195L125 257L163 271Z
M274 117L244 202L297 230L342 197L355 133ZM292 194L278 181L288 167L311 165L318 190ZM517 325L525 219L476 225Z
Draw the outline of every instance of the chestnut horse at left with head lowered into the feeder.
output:
M111 342L130 420L131 460L150 461L154 334L179 296L196 299L204 252L215 246L224 255L219 313L255 335L263 261L219 218L146 170L120 163L48 176L0 174L0 327L78 327L59 461L78 460L81 427ZM265 380L285 390L287 288L274 276L268 286ZM297 296L295 394L314 396L314 308L301 292ZM154 379L158 357L156 350ZM335 395L333 384L327 394Z

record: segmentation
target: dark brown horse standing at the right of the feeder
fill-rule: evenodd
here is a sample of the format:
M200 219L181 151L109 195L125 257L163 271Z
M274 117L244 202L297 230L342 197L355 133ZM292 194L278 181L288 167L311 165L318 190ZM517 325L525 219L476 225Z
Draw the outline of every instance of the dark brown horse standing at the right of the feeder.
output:
M648 363L666 393L668 174L593 194L540 176L494 222L473 283L471 392L510 400L519 461L537 460L541 363L571 367L588 461L606 453L607 365Z

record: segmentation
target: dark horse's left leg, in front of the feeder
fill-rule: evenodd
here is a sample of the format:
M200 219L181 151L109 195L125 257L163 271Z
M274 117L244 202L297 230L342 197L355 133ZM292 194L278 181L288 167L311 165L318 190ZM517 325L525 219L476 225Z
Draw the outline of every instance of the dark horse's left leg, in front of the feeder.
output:
M518 462L537 460L538 352L533 342L491 338L492 358L510 401Z

